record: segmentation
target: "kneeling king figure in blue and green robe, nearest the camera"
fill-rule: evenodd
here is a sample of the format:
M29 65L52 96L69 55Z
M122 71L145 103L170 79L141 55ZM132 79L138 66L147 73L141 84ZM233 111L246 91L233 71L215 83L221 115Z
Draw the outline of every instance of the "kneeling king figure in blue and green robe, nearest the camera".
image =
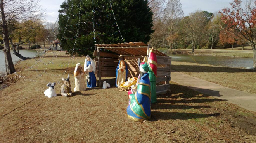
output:
M140 78L138 79L137 91L129 95L127 116L133 121L143 121L151 116L151 92L149 81L149 67L147 64L140 65Z

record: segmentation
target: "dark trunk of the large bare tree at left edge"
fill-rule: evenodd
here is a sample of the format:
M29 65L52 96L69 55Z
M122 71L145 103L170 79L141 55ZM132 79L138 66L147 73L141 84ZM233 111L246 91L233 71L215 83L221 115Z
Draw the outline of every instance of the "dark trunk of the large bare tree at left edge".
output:
M4 13L4 4L3 0L1 0L0 3L0 9L1 9L1 15L2 15L2 33L3 33L3 44L4 44L4 56L5 56L5 68L6 68L6 74L12 74L15 71L14 64L12 62L12 56L10 54L10 45L9 45L9 34L8 29L6 25L6 19L5 19L5 13Z

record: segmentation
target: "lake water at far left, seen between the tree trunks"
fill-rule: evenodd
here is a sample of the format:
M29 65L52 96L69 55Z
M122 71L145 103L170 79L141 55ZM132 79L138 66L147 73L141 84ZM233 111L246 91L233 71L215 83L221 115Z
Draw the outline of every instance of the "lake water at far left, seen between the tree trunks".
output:
M19 50L19 53L24 56L24 57L34 57L36 56L37 52L35 50ZM17 63L19 59L17 56L15 56L11 50L11 55L12 55L12 61L15 63ZM3 73L5 73L5 57L4 57L4 53L3 50L0 50L0 74L3 75Z

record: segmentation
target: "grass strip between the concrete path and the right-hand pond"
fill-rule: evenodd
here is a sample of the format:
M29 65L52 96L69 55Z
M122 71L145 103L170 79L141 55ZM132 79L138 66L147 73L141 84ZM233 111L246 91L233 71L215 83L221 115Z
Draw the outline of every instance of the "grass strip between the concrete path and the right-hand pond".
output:
M225 87L256 94L255 70L175 61L171 68Z

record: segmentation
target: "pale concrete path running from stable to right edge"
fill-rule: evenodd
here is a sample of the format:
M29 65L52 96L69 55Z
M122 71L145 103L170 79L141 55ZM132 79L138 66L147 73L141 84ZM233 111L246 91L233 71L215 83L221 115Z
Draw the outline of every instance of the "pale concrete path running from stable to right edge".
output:
M224 87L177 71L171 71L171 81L256 112L256 94Z

